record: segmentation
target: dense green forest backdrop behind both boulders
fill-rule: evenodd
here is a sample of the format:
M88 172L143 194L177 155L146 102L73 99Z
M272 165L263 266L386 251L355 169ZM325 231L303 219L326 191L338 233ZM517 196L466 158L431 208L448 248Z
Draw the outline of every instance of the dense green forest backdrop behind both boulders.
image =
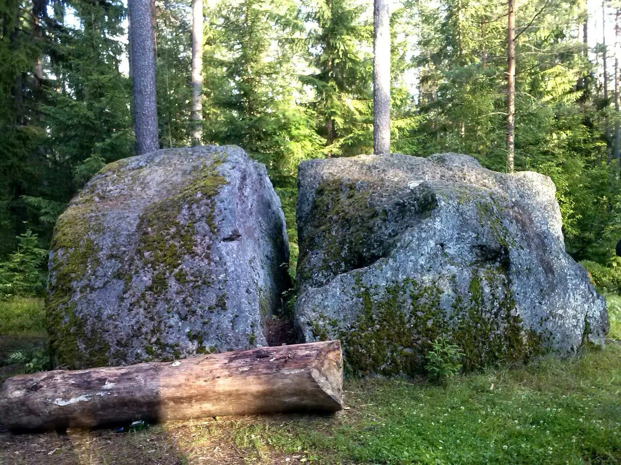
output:
M193 76L191 0L152 0L160 147L242 146L266 164L292 219L301 160L373 152L371 3L206 2ZM621 35L621 4L596 11L573 0L392 5L391 151L549 175L568 252L618 290L621 51L607 38ZM0 25L0 292L19 293L41 285L37 267L71 197L135 153L131 50L119 0L5 0Z

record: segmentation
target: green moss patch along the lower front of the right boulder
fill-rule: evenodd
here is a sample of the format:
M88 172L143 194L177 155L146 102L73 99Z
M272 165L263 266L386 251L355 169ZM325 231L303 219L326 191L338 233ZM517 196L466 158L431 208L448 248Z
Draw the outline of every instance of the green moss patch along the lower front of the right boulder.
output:
M491 291L484 292L484 285ZM515 314L504 276L493 271L473 275L469 298L451 292L449 312L440 308L443 291L435 284L406 279L376 291L359 281L356 288L361 308L353 324L334 331L335 324L319 314L312 326L317 339L342 340L350 374L421 374L438 337L463 350L466 371L528 361L545 350L542 336L525 330Z

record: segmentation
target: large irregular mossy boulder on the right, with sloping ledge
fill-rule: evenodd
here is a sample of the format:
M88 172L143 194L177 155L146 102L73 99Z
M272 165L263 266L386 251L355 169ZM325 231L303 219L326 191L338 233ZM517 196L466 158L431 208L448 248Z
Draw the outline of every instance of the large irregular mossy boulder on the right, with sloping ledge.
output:
M296 327L342 339L350 372L421 371L440 335L466 369L604 343L550 178L392 154L307 161L298 184Z

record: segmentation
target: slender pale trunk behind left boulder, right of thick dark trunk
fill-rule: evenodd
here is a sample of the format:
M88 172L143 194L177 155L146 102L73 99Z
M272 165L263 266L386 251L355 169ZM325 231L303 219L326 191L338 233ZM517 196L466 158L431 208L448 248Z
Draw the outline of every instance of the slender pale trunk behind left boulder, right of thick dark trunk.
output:
M202 141L202 0L192 0L192 144Z

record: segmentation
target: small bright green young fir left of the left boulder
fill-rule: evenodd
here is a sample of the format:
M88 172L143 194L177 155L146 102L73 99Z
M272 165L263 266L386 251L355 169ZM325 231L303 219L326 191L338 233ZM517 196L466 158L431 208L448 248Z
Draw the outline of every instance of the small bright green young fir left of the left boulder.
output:
M0 262L0 299L14 295L34 296L45 286L42 265L47 250L40 247L39 237L29 229L20 234L17 241L17 250L6 262Z

